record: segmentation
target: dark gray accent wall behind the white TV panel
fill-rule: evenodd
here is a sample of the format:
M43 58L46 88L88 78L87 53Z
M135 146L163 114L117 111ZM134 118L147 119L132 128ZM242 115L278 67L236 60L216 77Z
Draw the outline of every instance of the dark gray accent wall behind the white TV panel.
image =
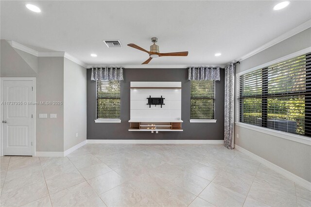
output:
M224 139L225 71L216 81L216 123L190 123L190 81L187 69L124 69L121 81L121 123L95 123L96 85L87 69L87 139ZM181 119L183 132L129 132L131 81L181 81ZM147 98L147 97L146 97ZM151 117L152 118L152 117Z

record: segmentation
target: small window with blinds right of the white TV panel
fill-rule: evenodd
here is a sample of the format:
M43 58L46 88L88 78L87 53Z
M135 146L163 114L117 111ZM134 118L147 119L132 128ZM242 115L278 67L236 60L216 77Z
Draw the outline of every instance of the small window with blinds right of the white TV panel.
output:
M190 119L215 119L215 81L191 81Z

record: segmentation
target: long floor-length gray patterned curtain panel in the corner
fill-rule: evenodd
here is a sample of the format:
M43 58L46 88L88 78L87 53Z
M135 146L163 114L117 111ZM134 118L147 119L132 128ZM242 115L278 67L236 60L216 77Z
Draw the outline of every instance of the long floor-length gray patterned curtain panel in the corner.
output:
M228 149L234 148L234 76L235 65L229 63L225 67L225 138Z

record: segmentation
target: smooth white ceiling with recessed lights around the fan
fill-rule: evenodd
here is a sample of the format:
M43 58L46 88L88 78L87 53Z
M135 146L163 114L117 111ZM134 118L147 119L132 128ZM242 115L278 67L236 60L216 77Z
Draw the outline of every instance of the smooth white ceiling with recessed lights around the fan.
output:
M1 39L38 52L62 51L87 65L137 65L158 37L160 52L189 51L188 57L160 57L154 65L226 64L311 18L311 1L0 1ZM41 13L26 9L32 3ZM105 40L121 40L107 48ZM215 57L216 52L222 55ZM91 57L96 53L97 57Z

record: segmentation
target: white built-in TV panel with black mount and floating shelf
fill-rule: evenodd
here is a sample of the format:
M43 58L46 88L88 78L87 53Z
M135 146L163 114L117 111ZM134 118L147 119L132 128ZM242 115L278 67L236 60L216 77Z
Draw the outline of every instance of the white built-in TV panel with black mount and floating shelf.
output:
M131 82L129 131L183 131L181 82Z

